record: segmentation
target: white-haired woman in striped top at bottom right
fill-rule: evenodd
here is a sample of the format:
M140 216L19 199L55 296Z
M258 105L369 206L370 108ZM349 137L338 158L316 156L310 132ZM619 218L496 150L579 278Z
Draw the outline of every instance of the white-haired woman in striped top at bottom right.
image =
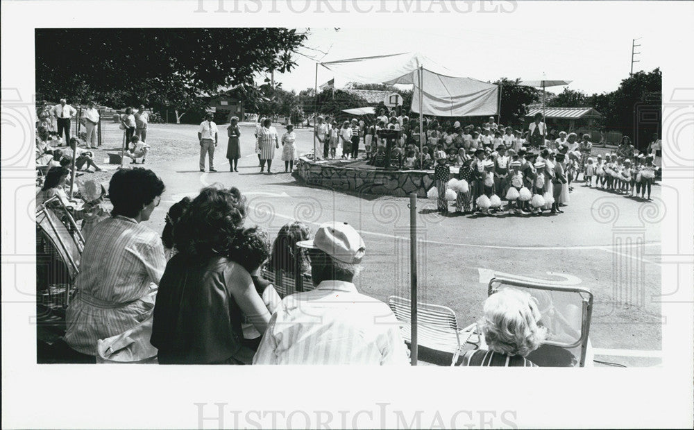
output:
M525 291L506 288L484 301L480 328L488 350L468 351L462 365L535 367L525 358L547 336L537 302Z

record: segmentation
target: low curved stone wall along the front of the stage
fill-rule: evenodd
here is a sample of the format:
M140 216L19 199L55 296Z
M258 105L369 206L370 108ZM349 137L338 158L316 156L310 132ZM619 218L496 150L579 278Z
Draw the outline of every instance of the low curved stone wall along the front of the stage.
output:
M425 171L363 170L348 166L316 164L301 157L294 175L308 185L357 193L426 197L434 175Z

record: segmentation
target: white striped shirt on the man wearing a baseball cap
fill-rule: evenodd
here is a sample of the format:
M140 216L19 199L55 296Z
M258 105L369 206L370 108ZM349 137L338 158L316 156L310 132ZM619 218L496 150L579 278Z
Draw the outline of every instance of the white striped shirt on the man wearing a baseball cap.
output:
M323 281L282 300L253 364L408 365L400 326L387 304L354 284Z

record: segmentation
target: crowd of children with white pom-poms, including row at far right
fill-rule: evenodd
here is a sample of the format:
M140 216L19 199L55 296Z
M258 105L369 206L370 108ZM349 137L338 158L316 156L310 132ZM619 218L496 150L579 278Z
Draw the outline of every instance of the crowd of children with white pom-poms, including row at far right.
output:
M658 169L653 156L643 154L634 155L634 161L616 154L609 154L605 160L601 155L588 157L581 169L581 154L568 152L566 146L555 150L546 146L529 150L524 146L514 150L501 144L496 150L477 148L472 156L463 149L450 155L439 149L434 159L434 186L427 196L438 200L438 210L448 212L452 203L456 212L482 214L505 211L527 215L545 210L561 214L580 173L584 174L584 187L650 200ZM505 207L502 199L506 200Z

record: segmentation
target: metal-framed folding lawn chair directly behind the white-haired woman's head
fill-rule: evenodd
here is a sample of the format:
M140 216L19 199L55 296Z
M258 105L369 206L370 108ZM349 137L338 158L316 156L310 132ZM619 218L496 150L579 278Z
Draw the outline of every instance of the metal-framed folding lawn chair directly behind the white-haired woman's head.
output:
M530 293L539 304L540 322L548 329L543 345L528 354L527 359L541 367L585 365L593 313L593 293L589 289L493 278L488 293L505 288Z

